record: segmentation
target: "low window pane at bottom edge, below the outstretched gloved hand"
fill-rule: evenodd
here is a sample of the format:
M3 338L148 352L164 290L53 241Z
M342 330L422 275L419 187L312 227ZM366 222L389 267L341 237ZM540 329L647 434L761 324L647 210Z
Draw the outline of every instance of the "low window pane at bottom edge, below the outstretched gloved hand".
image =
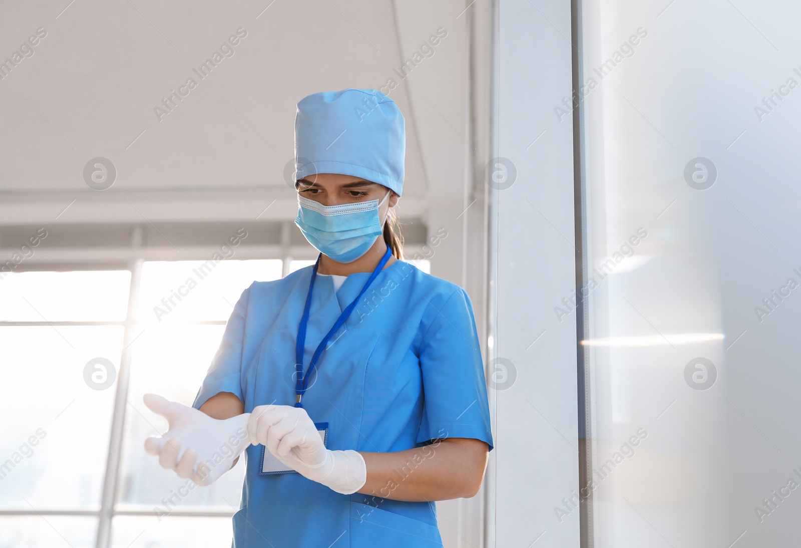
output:
M233 510L231 510L233 514ZM220 548L231 546L231 518L117 516L112 548Z

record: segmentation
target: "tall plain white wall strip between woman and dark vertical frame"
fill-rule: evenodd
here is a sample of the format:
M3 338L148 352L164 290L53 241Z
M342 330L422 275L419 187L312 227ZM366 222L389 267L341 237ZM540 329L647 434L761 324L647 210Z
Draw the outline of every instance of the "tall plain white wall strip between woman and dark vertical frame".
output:
M578 510L553 511L578 492L576 324L553 313L575 280L573 126L553 112L570 97L570 2L501 0L496 32L496 150L517 179L493 194L494 353L517 378L493 391L489 546L578 546Z

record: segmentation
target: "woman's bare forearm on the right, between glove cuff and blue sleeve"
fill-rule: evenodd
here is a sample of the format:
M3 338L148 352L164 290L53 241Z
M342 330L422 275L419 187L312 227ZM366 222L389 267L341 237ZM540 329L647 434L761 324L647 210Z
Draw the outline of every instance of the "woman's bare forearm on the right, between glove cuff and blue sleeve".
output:
M446 437L416 449L360 453L367 482L359 493L396 501L444 501L478 493L489 446L469 437Z

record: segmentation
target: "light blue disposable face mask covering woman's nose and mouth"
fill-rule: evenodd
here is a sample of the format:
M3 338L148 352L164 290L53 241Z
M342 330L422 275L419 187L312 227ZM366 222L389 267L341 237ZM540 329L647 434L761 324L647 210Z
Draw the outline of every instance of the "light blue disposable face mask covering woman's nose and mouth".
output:
M380 202L372 199L326 206L298 195L295 224L320 253L338 263L352 263L384 233L378 210L388 197L389 191Z

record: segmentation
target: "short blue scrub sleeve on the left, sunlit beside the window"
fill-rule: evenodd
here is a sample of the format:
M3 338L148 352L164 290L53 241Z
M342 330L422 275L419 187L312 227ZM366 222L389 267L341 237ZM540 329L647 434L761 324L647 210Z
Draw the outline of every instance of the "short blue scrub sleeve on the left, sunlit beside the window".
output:
M195 403L192 407L200 409L206 400L220 392L233 393L239 400L244 401L242 395L242 346L244 342L245 318L248 316L248 302L253 285L242 292L236 301L231 317L225 324L223 340L211 361L203 385L200 386Z

